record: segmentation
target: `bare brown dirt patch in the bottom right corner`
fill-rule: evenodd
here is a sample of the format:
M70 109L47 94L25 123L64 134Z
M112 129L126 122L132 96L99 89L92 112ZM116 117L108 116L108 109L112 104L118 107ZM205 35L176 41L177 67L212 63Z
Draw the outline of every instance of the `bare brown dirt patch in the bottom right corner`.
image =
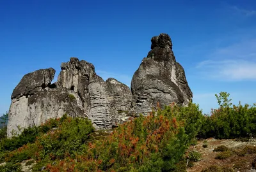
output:
M229 167L234 169L234 171L248 172L256 171L252 169L252 162L256 158L256 154L246 154L244 156L239 156L236 154L239 150L242 150L246 146L256 147L256 140L250 140L249 142L241 142L236 140L216 140L214 138L209 138L207 141L207 147L204 148L205 140L198 141L198 144L191 146L189 150L196 150L202 154L202 160L195 162L194 166L188 168L187 171L202 171L210 166L220 166ZM220 152L213 152L214 148L225 145L230 148L232 155L227 159L215 159L216 155Z

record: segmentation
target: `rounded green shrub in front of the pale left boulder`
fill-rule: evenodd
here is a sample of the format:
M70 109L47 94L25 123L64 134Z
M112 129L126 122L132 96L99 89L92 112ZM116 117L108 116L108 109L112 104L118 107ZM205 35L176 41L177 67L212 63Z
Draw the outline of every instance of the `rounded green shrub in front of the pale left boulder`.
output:
M68 117L58 129L38 138L42 147L40 155L51 159L74 156L77 152L82 152L85 141L93 131L94 128L88 118Z

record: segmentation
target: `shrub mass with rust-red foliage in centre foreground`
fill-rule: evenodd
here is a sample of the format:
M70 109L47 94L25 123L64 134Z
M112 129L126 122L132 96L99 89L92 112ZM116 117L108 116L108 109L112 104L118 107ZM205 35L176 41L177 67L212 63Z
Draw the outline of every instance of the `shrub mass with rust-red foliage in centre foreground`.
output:
M191 104L184 110L189 111L193 107ZM182 158L192 136L186 133L184 126L193 125L195 130L191 127L191 131L194 135L197 128L187 119L195 111L189 112L186 117L185 112L180 113L181 109L166 106L164 110L153 111L147 117L141 115L119 125L104 138L89 138L92 141L86 143L83 154L65 157L54 166L48 164L47 170L74 171L76 164L78 171L185 171ZM197 122L197 117L191 118Z

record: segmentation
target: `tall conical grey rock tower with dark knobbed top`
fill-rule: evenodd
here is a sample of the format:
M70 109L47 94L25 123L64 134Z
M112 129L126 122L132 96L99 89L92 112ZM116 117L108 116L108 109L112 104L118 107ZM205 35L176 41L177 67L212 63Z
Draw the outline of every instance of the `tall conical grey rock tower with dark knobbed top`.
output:
M132 77L132 110L147 115L153 107L170 103L186 105L192 100L185 72L176 62L168 34L152 39L150 52Z

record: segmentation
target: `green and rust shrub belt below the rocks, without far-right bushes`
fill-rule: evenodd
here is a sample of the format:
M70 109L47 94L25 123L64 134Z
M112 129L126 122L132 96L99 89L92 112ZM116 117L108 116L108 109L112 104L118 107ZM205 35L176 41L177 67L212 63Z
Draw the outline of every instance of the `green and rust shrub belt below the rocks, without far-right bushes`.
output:
M196 104L172 104L125 122L109 134L93 133L88 118L65 115L25 129L6 139L2 148L9 151L6 162L35 159L33 171L43 166L48 171L186 171L184 153L195 140L202 117ZM191 158L197 161L197 156Z

